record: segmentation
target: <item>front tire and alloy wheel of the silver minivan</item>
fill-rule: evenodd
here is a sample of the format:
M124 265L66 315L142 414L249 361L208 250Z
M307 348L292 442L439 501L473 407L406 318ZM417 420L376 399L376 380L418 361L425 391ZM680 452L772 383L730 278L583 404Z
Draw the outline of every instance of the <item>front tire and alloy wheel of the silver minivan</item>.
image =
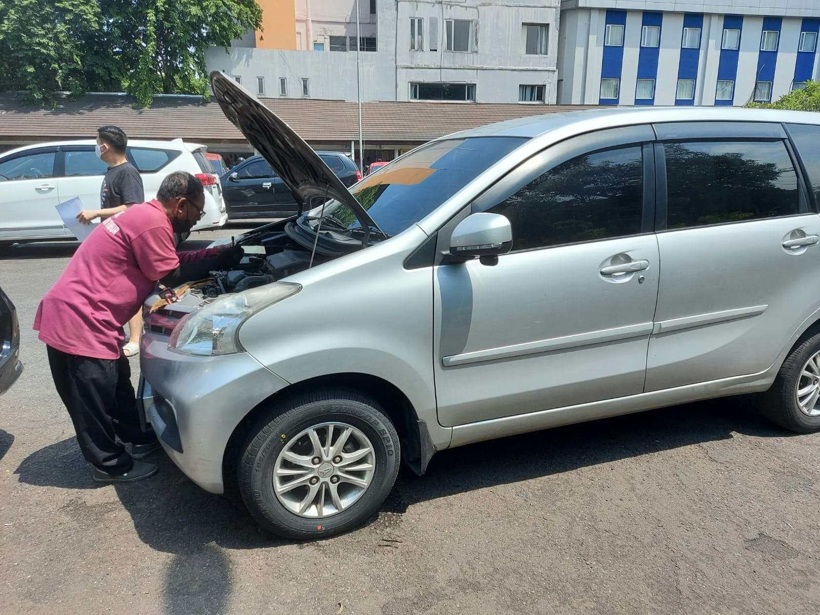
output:
M296 540L366 522L399 473L399 435L379 404L323 389L285 399L240 451L239 493L267 530Z

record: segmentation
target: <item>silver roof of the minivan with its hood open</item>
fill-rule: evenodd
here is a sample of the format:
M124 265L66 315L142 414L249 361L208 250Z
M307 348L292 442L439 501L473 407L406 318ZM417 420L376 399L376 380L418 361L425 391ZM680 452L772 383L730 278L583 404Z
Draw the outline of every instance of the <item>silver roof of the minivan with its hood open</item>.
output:
M554 130L577 126L578 132L635 124L685 121L760 121L820 124L820 113L738 107L612 107L522 117L449 134L441 139L471 137L535 138Z

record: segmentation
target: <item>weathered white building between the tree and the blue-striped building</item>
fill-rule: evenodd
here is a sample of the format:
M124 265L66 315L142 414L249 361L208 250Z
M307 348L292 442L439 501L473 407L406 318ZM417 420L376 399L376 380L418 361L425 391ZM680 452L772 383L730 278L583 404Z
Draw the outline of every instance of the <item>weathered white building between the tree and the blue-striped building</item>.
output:
M555 103L560 0L360 0L362 100ZM355 0L297 0L296 49L206 52L260 96L357 100ZM375 11L375 12L371 12Z

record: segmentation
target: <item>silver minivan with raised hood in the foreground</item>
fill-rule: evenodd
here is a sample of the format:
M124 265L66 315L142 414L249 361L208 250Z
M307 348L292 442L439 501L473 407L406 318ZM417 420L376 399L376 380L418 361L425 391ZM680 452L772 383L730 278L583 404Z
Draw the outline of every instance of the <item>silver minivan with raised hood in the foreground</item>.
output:
M305 213L146 303L174 462L297 539L367 521L399 462L725 395L820 429L820 114L640 108L453 134L349 191L223 75Z

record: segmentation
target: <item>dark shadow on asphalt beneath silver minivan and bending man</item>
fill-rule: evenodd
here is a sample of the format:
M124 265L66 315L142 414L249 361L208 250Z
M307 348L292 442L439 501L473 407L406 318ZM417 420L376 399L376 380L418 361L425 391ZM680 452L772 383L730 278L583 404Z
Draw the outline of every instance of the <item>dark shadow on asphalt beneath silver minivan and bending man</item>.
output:
M760 417L752 398L742 397L490 440L436 454L425 476L403 469L380 514L401 514L415 503L494 485L731 440L732 432L755 437L790 435ZM201 490L165 455L158 455L157 462L159 472L147 481L109 488L116 490L130 513L140 540L174 556L166 571L166 612L221 613L234 580L230 563L216 547L271 548L285 540L260 530L241 503ZM30 485L96 486L75 438L32 453L16 474Z

